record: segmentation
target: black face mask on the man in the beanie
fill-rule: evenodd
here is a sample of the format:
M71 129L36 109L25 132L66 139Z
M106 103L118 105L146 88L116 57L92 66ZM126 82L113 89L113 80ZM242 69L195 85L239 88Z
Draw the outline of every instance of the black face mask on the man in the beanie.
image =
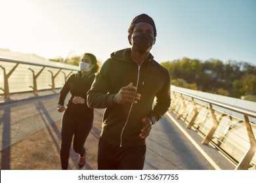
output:
M140 54L145 54L149 52L153 46L154 38L147 33L142 33L133 37L133 47Z

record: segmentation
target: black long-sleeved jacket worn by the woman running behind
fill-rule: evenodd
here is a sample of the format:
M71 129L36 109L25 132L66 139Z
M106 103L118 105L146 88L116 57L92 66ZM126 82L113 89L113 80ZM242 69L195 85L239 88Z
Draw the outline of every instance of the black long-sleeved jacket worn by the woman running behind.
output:
M91 88L91 84L95 79L95 74L90 76L82 76L81 71L78 71L74 75L71 75L62 89L58 99L58 105L64 105L64 101L68 92L71 93L68 101L66 112L81 117L81 118L93 118L93 108L89 108L86 101L87 92ZM74 97L82 97L85 99L84 104L74 104L72 99Z

